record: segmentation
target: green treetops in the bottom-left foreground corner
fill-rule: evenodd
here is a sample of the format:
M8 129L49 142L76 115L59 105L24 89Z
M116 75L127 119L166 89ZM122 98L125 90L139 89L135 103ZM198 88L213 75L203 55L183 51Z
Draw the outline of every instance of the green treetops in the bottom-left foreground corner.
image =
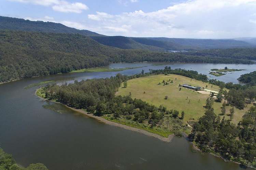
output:
M0 170L48 170L43 164L30 164L27 168L18 166L12 155L0 148Z

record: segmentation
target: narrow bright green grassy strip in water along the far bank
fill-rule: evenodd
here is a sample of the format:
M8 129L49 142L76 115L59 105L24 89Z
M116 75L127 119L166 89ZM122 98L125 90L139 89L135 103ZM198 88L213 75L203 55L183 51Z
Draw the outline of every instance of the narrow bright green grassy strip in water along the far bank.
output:
M109 67L95 67L95 68L85 68L81 70L73 70L71 73L78 72L112 72L112 71L123 71L128 69L141 68L141 67L126 67L126 68L109 68Z

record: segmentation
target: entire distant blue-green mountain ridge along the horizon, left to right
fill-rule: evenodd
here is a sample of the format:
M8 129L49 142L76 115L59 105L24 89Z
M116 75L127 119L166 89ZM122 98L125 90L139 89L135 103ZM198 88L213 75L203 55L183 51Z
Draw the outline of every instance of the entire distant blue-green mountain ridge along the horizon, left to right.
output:
M143 49L150 51L204 50L226 48L256 47L256 38L252 39L189 39L165 37L124 37L105 36L88 30L78 30L61 23L30 21L0 16L0 30L17 30L46 33L71 33L89 36L106 46L121 49Z

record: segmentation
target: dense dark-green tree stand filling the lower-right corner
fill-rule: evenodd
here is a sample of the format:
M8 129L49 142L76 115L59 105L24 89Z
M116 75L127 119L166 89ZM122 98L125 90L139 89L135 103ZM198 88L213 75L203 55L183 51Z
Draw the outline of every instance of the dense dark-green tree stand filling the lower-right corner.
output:
M230 109L230 114L233 114ZM205 115L193 125L189 135L191 141L203 152L212 152L224 159L256 167L256 107L252 106L236 125L230 120L221 120L211 105Z

